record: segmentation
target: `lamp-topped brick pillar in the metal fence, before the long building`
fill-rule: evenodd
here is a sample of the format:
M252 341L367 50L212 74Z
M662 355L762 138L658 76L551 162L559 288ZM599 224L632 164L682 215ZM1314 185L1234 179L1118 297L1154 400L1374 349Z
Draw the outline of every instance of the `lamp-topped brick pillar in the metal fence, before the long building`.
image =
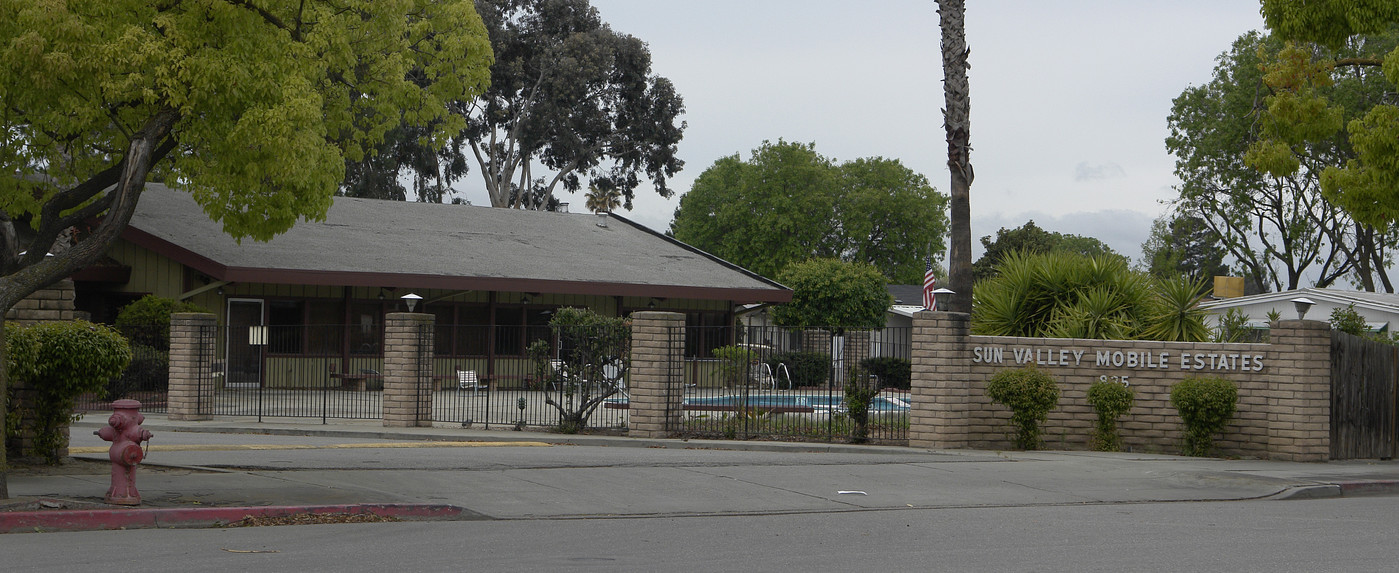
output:
M383 319L383 425L432 425L432 314Z

